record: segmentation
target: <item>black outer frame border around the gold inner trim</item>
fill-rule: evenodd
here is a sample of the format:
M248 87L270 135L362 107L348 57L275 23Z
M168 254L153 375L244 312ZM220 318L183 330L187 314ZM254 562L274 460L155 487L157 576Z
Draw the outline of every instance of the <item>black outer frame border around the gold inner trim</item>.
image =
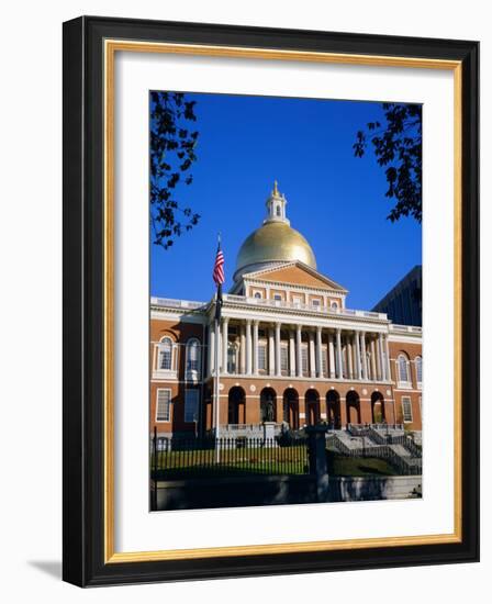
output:
M103 41L462 61L462 541L104 564ZM479 43L81 16L64 23L63 578L79 586L479 560ZM466 396L465 396L466 393Z

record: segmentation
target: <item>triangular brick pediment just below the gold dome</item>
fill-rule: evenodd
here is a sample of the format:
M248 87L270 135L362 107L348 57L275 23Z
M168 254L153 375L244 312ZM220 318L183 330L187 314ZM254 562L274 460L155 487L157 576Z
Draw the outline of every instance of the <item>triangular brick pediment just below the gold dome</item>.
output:
M323 289L329 291L339 291L347 293L347 290L339 283L333 281L328 277L322 275L317 270L309 267L299 260L286 262L281 267L267 268L248 272L243 276L243 279L253 279L255 281L265 281L273 283L289 283L292 286L301 286L308 288Z

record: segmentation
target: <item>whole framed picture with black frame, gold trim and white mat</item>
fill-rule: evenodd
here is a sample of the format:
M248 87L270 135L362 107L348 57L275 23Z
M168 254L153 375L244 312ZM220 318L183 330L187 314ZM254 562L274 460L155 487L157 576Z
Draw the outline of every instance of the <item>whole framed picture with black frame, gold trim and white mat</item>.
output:
M477 561L476 42L64 24L64 579Z

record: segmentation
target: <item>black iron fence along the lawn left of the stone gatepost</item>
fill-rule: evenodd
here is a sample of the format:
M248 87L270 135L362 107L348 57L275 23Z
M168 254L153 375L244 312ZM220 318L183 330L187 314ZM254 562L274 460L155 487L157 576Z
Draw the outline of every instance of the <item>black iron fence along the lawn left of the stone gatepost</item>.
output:
M305 438L171 438L154 436L152 478L309 473Z

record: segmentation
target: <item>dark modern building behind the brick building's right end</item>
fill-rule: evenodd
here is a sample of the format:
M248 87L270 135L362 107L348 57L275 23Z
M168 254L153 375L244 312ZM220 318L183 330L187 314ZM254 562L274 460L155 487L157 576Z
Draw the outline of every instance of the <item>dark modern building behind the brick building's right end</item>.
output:
M422 265L413 267L372 310L387 313L393 323L422 326Z

